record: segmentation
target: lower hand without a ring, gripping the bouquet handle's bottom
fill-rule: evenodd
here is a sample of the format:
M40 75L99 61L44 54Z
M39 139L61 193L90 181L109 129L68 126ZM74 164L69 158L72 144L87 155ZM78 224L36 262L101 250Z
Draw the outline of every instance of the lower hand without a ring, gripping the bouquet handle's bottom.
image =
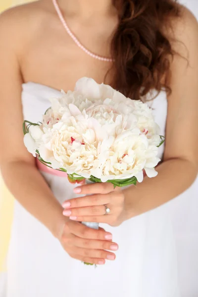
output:
M79 222L66 221L60 236L60 243L66 252L74 259L90 263L105 264L105 259L115 260L115 254L107 250L117 250L111 233L91 229Z

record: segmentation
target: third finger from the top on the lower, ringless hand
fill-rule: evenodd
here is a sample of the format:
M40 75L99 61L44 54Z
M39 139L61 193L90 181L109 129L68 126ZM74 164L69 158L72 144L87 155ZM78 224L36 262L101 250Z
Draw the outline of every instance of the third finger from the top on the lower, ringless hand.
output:
M103 249L89 249L83 247L73 247L72 252L83 257L115 260L115 254Z

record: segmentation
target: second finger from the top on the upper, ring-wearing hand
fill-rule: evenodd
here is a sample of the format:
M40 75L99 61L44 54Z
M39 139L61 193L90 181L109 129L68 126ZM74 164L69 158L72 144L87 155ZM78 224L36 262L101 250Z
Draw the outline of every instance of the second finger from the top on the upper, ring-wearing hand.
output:
M64 208L77 208L93 205L104 205L110 203L110 198L111 197L109 195L95 194L66 200L63 202L62 206Z

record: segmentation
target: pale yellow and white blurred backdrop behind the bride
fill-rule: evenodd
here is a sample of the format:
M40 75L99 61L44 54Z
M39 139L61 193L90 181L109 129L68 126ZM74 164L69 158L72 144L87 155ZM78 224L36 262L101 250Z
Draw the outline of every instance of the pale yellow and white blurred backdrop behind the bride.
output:
M30 0L0 0L0 11ZM198 0L180 0L198 18ZM183 297L198 297L198 179L179 198L170 203L180 263L180 283ZM5 271L13 214L13 197L0 178L0 272Z

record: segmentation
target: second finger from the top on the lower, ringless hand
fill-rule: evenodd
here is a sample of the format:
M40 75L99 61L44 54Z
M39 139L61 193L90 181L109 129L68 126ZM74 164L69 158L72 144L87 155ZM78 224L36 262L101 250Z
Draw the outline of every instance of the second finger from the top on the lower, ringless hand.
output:
M113 242L105 240L91 240L75 236L72 244L76 247L83 247L89 249L103 249L103 250L118 250L118 245Z

